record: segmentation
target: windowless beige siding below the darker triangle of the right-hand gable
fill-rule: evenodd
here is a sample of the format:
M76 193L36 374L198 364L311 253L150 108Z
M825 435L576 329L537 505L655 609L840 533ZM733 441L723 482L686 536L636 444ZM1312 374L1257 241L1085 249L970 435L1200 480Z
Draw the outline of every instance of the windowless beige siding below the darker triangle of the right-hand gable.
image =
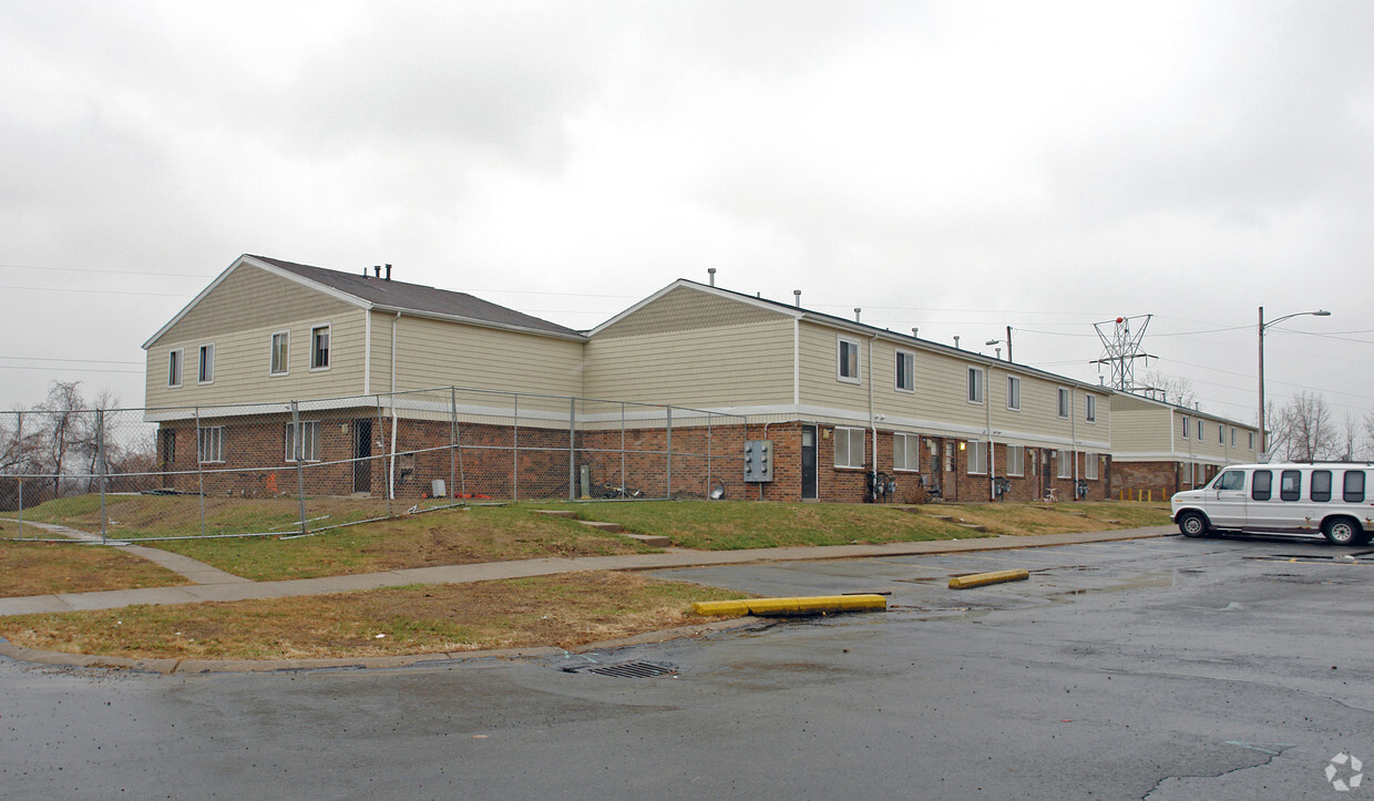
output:
M793 321L779 315L691 331L596 335L585 348L587 397L710 408L793 400Z

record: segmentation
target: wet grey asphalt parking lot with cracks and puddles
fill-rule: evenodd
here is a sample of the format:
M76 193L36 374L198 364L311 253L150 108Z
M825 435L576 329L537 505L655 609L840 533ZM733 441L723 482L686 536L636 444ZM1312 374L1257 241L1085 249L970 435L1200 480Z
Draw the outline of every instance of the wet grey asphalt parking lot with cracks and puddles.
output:
M947 587L1007 567L1030 578ZM1374 758L1370 567L1370 548L1182 537L719 566L660 574L889 592L890 610L442 668L0 662L0 782L74 798L1358 797L1374 787L1333 779ZM625 665L664 673L592 672Z

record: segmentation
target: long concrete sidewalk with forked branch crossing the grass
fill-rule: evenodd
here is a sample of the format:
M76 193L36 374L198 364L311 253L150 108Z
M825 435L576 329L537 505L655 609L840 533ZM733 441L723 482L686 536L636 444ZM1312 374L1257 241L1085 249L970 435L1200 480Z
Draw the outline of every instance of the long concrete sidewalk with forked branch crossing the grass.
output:
M294 595L327 595L356 589L378 589L407 584L467 584L493 578L550 576L578 570L660 570L666 567L699 567L708 565L745 565L752 562L798 562L815 559L863 559L875 556L908 556L922 554L960 554L971 551L1000 551L1011 548L1040 548L1079 543L1107 543L1142 537L1164 537L1178 533L1173 526L1120 529L1112 532L1081 532L1068 534L1033 534L1022 537L980 537L973 540L936 540L925 543L888 543L883 545L826 545L797 548L750 548L742 551L684 551L668 550L662 554L635 554L624 556L583 556L576 559L521 559L517 562L484 562L480 565L447 565L412 567L354 576L327 576L290 581L250 581L232 576L187 556L159 548L117 545L181 573L195 584L184 587L153 587L146 589L113 589L104 592L71 592L58 595L30 595L0 598L0 617L45 611L73 611L91 609L121 609L136 605L202 603L207 600L249 600L257 598L289 598Z

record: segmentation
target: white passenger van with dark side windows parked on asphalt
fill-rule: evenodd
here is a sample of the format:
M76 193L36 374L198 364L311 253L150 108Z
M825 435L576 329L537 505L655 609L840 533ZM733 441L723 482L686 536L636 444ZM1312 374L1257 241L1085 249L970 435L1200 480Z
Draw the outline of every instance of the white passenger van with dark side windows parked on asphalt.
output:
M1337 545L1363 545L1374 530L1374 464L1234 464L1206 486L1169 500L1186 537L1220 532L1322 532Z

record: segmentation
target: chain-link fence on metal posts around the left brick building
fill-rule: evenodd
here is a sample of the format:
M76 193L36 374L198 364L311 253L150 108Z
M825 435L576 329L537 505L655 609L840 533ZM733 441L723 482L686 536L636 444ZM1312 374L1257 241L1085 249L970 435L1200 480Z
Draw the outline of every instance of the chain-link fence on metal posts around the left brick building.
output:
M0 412L0 536L298 536L464 503L743 495L747 420L471 389Z

